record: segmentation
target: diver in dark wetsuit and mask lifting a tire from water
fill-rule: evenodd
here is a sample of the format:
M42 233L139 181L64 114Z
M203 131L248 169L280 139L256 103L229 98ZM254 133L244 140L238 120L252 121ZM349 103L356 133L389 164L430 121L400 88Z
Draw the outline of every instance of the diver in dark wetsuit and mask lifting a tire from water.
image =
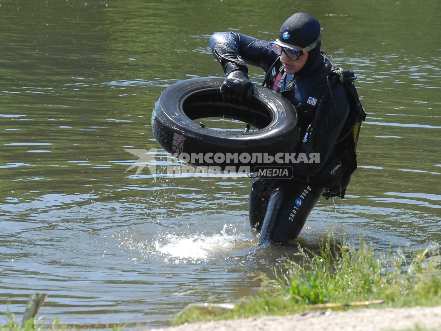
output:
M236 32L213 34L210 38L213 56L227 75L221 94L226 98L250 98L253 84L247 75L247 64L262 68L267 74L266 86L286 97L299 113L301 141L298 146L302 146L314 120L317 102L328 88L326 77L336 69L320 51L320 32L320 24L314 16L296 13L283 23L273 42ZM265 182L254 178L251 183L250 225L261 231L259 244L295 239L325 188L341 183L344 151L336 142L350 106L342 84L335 84L330 95L325 100L310 146L310 150L319 153L320 162L293 164L295 177L291 180ZM341 193L344 196L340 185L340 196Z

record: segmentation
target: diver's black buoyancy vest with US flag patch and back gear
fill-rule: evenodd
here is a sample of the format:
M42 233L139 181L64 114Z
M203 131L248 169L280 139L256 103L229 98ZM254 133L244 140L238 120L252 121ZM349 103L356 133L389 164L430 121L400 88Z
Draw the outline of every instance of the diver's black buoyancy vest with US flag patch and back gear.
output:
M326 56L325 59L327 60ZM295 93L292 93L296 78L293 77L289 82L286 82L287 75L283 71L280 60L277 59L269 68L262 85L287 97L297 111L302 113L300 134L302 151L308 155L314 141L315 130L320 124L323 106L328 98L333 98L333 86L337 83L343 84L348 96L349 114L333 148L336 153L330 156L319 173L309 178L308 181L325 187L323 196L326 199L335 196L344 198L346 188L351 181L351 175L357 169L355 149L359 139L361 122L366 119L366 112L354 86L354 81L357 79L354 72L336 68L330 61L325 66L325 70L326 72L320 72L316 75L314 81L311 78L311 82L306 84L309 85L308 90L295 91L297 92L296 98ZM308 96L307 99L306 96Z

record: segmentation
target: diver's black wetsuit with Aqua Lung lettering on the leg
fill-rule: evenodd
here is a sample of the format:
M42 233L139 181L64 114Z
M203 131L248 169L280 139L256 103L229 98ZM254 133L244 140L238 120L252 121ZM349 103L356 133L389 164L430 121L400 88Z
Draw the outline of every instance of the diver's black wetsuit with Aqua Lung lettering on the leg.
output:
M270 41L235 32L213 34L210 46L213 56L220 61L227 75L235 70L248 71L246 64L258 66L266 73L278 57L271 50ZM282 93L296 106L301 125L300 139L314 118L314 113L308 111L308 98L311 95L319 96L327 88L326 76L333 68L333 64L324 52L320 52L318 45L308 52L308 59L300 71L295 75L287 74L284 79L283 74L276 75L271 83L273 90ZM333 167L333 160L341 153L336 141L348 117L349 102L342 84L336 84L332 94L333 98L329 98L323 109L312 146L312 150L319 153L320 162L293 164L295 178L292 180L253 179L251 183L250 225L261 230L260 244L284 242L297 237L324 188L329 184L338 184L341 178L340 173L335 176L336 183L330 183L329 180L333 181L333 177L329 179L326 175L333 170L329 168ZM298 146L300 145L301 142Z

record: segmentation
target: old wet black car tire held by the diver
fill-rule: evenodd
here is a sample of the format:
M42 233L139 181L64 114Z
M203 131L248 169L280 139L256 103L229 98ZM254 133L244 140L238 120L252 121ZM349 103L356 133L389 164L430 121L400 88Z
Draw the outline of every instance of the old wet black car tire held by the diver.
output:
M253 153L274 156L295 151L299 124L294 106L266 87L254 85L252 100L223 99L222 78L194 78L167 87L152 113L152 130L157 142L169 153L208 153L206 159L190 162L197 166L256 165L242 158L234 163L211 162L213 155ZM252 132L222 132L204 128L194 120L225 117L242 120L257 128ZM217 158L220 160L221 158ZM258 158L255 158L257 161ZM214 161L214 160L213 160ZM251 160L252 161L252 160ZM263 161L262 161L263 162Z

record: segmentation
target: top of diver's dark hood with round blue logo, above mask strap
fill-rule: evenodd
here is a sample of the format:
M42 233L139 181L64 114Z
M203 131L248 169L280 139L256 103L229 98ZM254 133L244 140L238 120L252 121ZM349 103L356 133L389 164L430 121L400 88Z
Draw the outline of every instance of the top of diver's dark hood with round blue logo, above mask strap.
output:
M310 14L295 13L280 28L279 40L284 44L306 47L320 35L320 23Z

